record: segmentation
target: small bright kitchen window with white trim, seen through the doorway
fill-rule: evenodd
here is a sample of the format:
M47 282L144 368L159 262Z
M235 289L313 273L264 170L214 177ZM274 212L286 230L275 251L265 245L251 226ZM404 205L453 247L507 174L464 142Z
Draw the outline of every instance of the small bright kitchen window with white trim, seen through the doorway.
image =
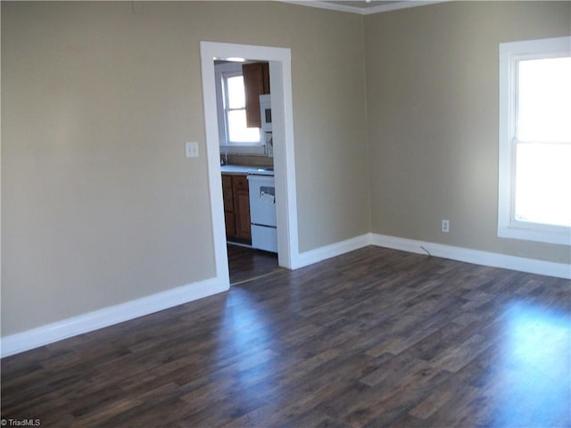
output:
M263 153L261 129L246 125L242 64L216 64L215 72L221 152Z

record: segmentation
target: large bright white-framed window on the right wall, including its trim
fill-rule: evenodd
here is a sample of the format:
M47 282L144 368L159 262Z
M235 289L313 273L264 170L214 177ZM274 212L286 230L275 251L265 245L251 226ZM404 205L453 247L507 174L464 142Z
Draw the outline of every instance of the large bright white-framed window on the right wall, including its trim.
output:
M571 245L570 46L500 45L500 237Z

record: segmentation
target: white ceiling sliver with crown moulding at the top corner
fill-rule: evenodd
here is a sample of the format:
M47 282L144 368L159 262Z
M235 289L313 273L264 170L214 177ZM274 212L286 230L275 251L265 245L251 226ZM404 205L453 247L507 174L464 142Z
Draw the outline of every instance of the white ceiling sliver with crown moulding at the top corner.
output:
M301 4L303 6L319 7L340 12L371 13L389 12L397 9L424 6L426 4L441 3L450 0L283 0L286 3Z

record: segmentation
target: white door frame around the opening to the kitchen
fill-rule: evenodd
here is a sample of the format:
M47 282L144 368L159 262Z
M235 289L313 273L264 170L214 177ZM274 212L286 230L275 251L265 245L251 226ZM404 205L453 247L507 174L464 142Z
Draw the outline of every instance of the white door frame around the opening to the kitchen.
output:
M291 51L283 47L200 42L203 74L204 126L211 200L212 236L216 276L229 286L228 251L222 201L220 148L214 60L245 58L269 62L276 176L277 250L279 266L299 266L297 198L295 193L294 111Z

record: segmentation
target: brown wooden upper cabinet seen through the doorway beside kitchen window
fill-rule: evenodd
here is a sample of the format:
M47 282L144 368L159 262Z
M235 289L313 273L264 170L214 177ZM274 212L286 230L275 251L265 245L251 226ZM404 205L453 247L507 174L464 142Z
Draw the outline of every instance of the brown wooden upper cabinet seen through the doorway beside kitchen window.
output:
M243 64L242 74L246 97L246 125L248 128L261 128L260 95L269 94L269 63Z

